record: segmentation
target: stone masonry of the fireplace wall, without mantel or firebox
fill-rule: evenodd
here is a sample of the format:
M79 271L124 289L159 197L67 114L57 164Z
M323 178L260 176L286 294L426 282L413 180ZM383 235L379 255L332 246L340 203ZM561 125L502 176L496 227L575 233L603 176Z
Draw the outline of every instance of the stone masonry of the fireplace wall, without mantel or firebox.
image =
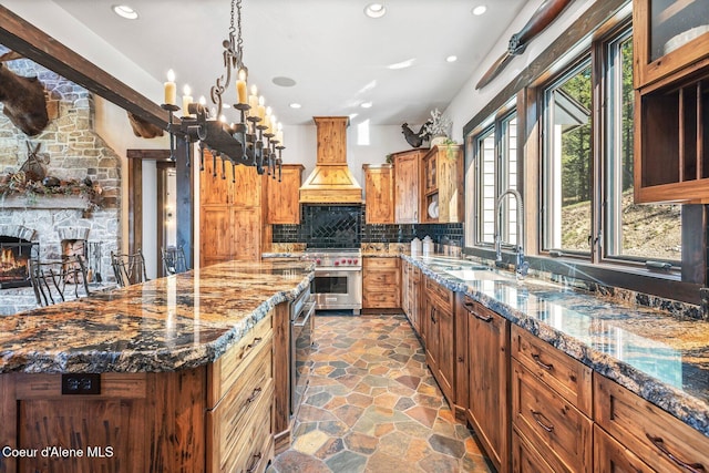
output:
M0 54L6 51L0 47ZM0 196L0 226L34 230L40 259L61 255L60 233L88 229L88 241L102 244L102 276L110 279L110 253L121 247L121 157L94 132L93 96L30 60L6 65L19 75L39 78L47 91L50 123L39 135L27 136L0 114L0 179L7 183L20 171L28 158L29 141L32 148L41 144L38 156L45 163L48 176L60 181L89 178L101 193L101 203L93 206L82 195L6 193ZM31 288L0 290L0 315L33 308L31 295Z

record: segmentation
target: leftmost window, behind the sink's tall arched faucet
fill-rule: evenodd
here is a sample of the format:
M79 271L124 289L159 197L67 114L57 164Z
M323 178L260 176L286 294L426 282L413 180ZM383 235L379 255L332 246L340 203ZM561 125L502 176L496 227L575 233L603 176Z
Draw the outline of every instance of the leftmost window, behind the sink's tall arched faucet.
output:
M473 132L474 186L469 184L466 195L475 195L475 224L466 235L475 235L472 245L493 245L495 241L495 206L497 196L508 188L517 189L517 115L511 109L516 100L511 100L495 116L491 116ZM505 198L501 207L501 238L510 245L517 244L517 202Z

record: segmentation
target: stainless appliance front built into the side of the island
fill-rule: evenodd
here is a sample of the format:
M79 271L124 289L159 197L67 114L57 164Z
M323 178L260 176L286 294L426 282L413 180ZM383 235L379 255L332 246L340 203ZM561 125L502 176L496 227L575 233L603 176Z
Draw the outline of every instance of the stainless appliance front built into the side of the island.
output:
M315 301L302 305L290 321L290 414L296 415L302 395L308 388L308 377L312 368L310 350L315 332Z

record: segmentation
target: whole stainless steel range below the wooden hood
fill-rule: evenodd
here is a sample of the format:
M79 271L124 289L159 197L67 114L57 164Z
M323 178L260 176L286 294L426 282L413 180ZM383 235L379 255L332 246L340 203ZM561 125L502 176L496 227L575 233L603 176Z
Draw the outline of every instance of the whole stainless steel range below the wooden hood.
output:
M315 279L310 290L316 310L362 309L362 251L360 249L308 249L315 260Z

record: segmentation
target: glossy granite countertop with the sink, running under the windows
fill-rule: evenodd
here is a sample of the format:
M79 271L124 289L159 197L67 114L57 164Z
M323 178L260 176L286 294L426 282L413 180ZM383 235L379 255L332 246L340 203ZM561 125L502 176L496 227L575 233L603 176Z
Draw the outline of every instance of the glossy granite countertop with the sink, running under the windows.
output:
M402 258L709 436L707 321L461 260Z

